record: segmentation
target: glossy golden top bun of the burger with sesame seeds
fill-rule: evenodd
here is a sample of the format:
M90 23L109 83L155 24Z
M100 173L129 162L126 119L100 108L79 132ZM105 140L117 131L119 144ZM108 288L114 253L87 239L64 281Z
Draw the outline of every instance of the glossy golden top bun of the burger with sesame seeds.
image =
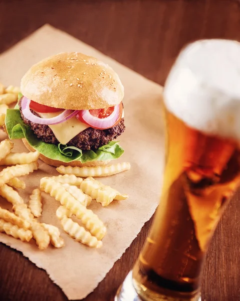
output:
M40 104L71 110L108 108L124 96L111 67L78 52L59 53L33 65L22 78L21 91Z

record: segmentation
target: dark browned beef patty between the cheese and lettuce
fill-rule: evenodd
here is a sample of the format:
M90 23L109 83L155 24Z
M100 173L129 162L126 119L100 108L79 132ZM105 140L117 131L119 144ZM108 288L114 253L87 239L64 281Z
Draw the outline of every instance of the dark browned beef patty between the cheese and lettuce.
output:
M46 124L34 123L26 119L22 113L21 100L19 101L19 108L22 119L27 123L34 133L46 143L59 144L58 139L55 137L52 129ZM31 110L32 111L32 110ZM32 111L33 114L39 116L36 112ZM108 129L95 129L88 127L75 137L73 137L68 143L68 146L76 146L80 149L97 149L100 146L107 144L109 141L116 139L125 130L124 118L121 121Z

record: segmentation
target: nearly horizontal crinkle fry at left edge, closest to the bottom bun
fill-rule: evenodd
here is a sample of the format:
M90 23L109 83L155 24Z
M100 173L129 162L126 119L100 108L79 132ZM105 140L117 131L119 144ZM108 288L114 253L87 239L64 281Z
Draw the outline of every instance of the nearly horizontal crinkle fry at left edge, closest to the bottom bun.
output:
M2 161L0 165L16 165L16 164L30 164L39 159L39 152L30 153L10 153Z

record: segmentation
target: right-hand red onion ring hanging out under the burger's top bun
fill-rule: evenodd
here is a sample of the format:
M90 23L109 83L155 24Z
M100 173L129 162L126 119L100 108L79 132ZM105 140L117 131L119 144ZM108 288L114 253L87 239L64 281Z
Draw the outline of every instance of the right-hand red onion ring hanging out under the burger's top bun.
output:
M115 105L112 114L106 118L98 118L93 116L89 110L81 110L80 114L83 120L93 127L97 127L99 129L109 128L112 127L118 119L119 105Z

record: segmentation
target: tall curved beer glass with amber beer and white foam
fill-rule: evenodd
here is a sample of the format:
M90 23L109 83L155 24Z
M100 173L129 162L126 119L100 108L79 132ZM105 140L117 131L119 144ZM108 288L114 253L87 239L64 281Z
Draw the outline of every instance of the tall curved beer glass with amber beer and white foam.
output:
M206 251L240 180L238 66L239 43L203 40L187 46L170 71L161 199L116 301L200 300Z

